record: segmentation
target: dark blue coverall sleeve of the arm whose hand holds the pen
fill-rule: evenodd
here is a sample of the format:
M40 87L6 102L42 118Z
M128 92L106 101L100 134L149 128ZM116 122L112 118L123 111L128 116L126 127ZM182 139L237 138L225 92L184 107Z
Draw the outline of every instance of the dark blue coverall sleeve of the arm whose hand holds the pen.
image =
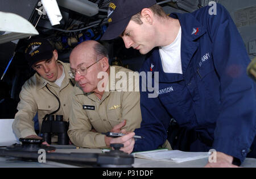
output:
M144 82L140 81L140 85ZM156 149L167 139L170 116L159 98L148 98L148 91L141 91L141 114L141 128L134 132L136 135L143 136L144 139L135 141L133 152Z

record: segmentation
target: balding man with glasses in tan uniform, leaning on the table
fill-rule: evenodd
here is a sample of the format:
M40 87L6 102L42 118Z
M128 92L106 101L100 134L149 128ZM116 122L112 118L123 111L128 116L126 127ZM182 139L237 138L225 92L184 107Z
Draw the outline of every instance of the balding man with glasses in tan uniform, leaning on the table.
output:
M101 132L134 131L140 127L139 84L131 76L134 72L121 66L110 67L108 61L108 51L97 41L85 41L71 53L71 71L77 83L68 135L79 147L106 148L112 138Z

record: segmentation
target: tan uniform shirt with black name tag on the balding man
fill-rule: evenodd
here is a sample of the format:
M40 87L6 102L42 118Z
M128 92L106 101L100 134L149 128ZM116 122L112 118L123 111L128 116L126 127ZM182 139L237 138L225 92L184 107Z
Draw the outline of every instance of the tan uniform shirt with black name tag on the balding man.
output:
M113 67L114 75L118 72L127 74L126 82L133 78L128 76L128 73L132 72L131 70L120 66L112 66L110 74L113 74ZM113 79L111 75L110 79ZM115 81L119 81L119 79L115 79ZM79 85L76 84L68 130L69 138L73 144L79 147L106 148L105 135L102 135L101 132L109 132L124 119L126 119L126 126L123 128L126 131L134 131L135 128L141 126L140 95L139 91L134 91L139 89L137 88L139 84L135 86L133 81L130 82L130 84L123 85L122 88L127 87L128 89L133 84L131 86L132 91L117 89L115 86L113 91L105 90L101 101L94 93L84 94ZM93 128L97 132L92 132Z

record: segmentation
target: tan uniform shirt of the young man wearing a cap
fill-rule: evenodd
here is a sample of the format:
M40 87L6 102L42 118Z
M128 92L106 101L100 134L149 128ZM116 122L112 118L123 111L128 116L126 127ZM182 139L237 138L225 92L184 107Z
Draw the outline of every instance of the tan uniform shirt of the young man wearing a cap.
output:
M69 120L71 93L73 92L73 85L68 74L70 65L61 61L58 61L58 63L63 65L65 72L65 78L61 87L57 86L54 82L45 80L37 73L22 86L19 94L20 102L17 107L18 113L16 113L13 123L14 133L18 138L36 135L33 118L37 112L39 128L41 128L44 116L58 109L59 102L52 93L60 100L60 110L54 115L63 115L63 120ZM46 85L52 93L46 88Z

